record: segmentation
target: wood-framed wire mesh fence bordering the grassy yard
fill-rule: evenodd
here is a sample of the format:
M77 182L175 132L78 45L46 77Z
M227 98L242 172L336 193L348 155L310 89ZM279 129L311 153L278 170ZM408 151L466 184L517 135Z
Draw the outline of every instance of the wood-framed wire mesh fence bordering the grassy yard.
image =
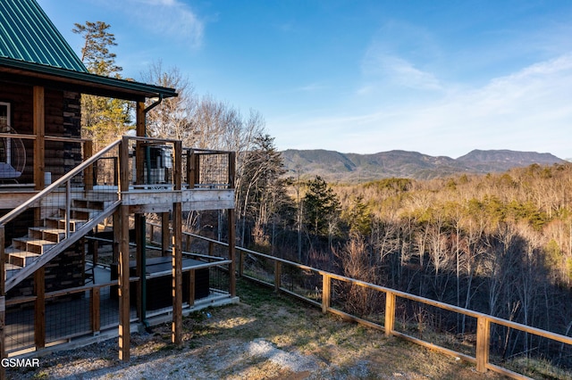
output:
M193 239L206 242L208 244L208 250L211 252L210 254L214 252L214 245L228 246L226 243L204 236L189 235ZM445 302L437 302L414 294L374 285L355 278L344 277L246 248L237 246L236 251L238 252L237 260L239 260L237 264L239 277L248 278L262 285L272 286L277 293L288 293L304 302L321 308L324 313L331 312L359 324L383 330L385 335L399 336L409 342L417 343L429 349L467 360L468 362L474 363L476 370L479 372L485 372L487 369L491 369L504 376L527 378L509 368L492 363L490 348L492 344L491 331L494 325L545 338L552 346L558 346L556 350L560 351L560 354L565 352L565 355L572 355L572 338L565 335L551 333L507 319L496 318L474 310L453 306ZM348 286L363 289L364 292L361 294L365 297L369 296L370 299L376 295L383 296L385 302L382 302L383 306L381 310L377 311L377 315L364 317L344 311L347 300L343 299L343 294L347 292L343 290L347 291L349 289ZM369 292L369 294L366 294L366 292ZM437 318L438 315L443 312L452 312L459 316L473 318L475 320L473 324L475 325L475 334L472 336L475 337L475 339L465 339L462 343L454 344L455 347L458 347L457 349L450 349L444 347L440 342L429 342L428 337L435 337L435 335L429 332L425 332L425 335L421 332L418 336L410 334L409 330L418 330L421 328L421 322L416 321L414 324L416 326L411 326L411 323L407 321L398 323L400 310L406 309L405 302L414 302L418 305L422 305L425 308L425 313L428 310L433 310L433 318ZM403 311L403 313L405 313L405 311ZM375 312L373 314L375 314ZM429 317L430 316L426 316L426 318ZM471 334L466 335L470 336ZM437 341L439 340L437 339ZM467 346L467 344L471 345L472 349L467 350L466 347L461 347ZM467 351L472 351L472 353L467 353ZM568 372L563 378L569 378L567 376L572 376L572 374Z

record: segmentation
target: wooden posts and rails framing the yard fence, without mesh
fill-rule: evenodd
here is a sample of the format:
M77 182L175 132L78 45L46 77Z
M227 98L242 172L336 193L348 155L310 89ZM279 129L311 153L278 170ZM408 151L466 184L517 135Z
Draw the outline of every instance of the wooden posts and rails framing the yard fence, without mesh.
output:
M212 251L212 245L213 244L218 244L218 245L228 247L228 244L226 244L226 243L219 242L219 241L216 241L213 239L209 239L209 238L206 238L204 236L194 235L194 234L185 234L185 235L189 235L192 238L196 238L196 239L208 242L209 251ZM450 304L445 303L445 302L438 302L438 301L430 300L430 299L425 298L425 297L417 296L415 294L405 293L405 292L401 292L401 291L391 289L391 288L387 288L384 286L366 283L364 281L360 281L360 280L357 280L355 278L349 278L349 277L337 275L337 274L334 274L331 272L327 272L327 271L324 271L321 269L311 268L311 267L308 267L307 265L302 265L302 264L299 264L299 263L296 263L296 262L293 262L290 260L284 260L281 258L273 257L273 256L267 255L265 253L248 250L246 248L236 247L236 250L237 250L237 252L239 252L239 254L237 255L237 260L238 260L237 270L239 272L240 277L245 277L245 278L248 278L250 280L256 281L257 283L272 286L276 292L288 293L294 297L299 298L302 301L305 301L305 302L313 304L317 307L320 307L324 313L325 312L331 312L333 314L340 315L343 318L348 318L352 321L363 324L365 326L380 329L380 330L385 332L385 335L398 336L400 338L408 340L409 342L420 344L420 345L425 346L427 348L430 348L434 351L440 351L440 352L445 353L447 355L451 355L451 356L458 357L460 359L467 360L469 362L474 363L476 365L476 370L479 372L485 372L487 369L491 369L494 372L497 372L497 373L500 373L501 375L509 376L512 378L517 378L517 379L528 378L524 375L521 375L521 374L518 374L514 371L511 371L508 368L502 368L500 366L492 364L489 361L489 350L490 350L490 345L491 345L491 326L492 326L492 324L509 327L511 329L514 329L517 331L522 331L522 332L532 334L532 335L537 335L537 336L540 336L543 338L547 338L553 342L572 345L572 337L568 337L566 335L559 335L556 333L551 333L550 331L545 331L545 330L542 330L540 328L522 325L522 324L519 324L517 322L509 321L507 319L492 317L492 316L484 314L484 313L480 313L480 312L477 312L474 310L467 310L464 308L460 308L458 306L450 305ZM251 277L251 276L245 275L245 273L244 273L244 261L245 261L246 255L251 255L251 256L256 257L256 258L270 260L270 262L273 262L273 281L265 281L265 280L261 280L257 277ZM293 268L299 268L299 269L304 270L304 271L310 271L316 275L321 276L322 277L322 297L321 297L322 301L316 302L312 298L309 298L309 297L302 295L302 294L299 294L299 293L295 293L295 292L290 291L290 290L286 289L285 287L283 287L281 284L281 281L282 281L281 278L282 278L282 270L283 270L282 267L284 265L289 265ZM355 315L351 315L351 314L346 313L342 310L337 310L337 309L333 308L331 305L331 302L332 302L332 280L338 280L338 281L348 283L350 285L357 285L357 286L361 286L361 287L366 288L366 289L374 290L376 292L384 293L385 294L385 307L384 307L384 323L383 323L383 326L380 324L374 323L372 321L368 321L366 319L359 318ZM406 299L406 300L410 300L413 302L419 302L419 303L422 303L425 305L433 306L433 307L438 308L440 310L448 310L448 311L452 311L452 312L455 312L455 313L458 313L461 315L465 315L467 317L476 318L475 357L467 355L467 354L462 353L462 352L447 349L445 347L436 345L434 343L426 342L423 339L419 339L415 336L407 335L407 334L404 334L402 332L396 331L394 326L395 326L395 317L396 317L396 302L398 299Z

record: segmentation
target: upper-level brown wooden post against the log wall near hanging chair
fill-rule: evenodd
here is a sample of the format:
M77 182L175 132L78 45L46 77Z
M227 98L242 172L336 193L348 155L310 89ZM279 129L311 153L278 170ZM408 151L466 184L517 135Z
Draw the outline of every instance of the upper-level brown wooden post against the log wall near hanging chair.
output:
M34 188L43 190L46 186L44 179L46 159L46 105L44 103L44 87L34 86L33 90L33 129L34 140Z

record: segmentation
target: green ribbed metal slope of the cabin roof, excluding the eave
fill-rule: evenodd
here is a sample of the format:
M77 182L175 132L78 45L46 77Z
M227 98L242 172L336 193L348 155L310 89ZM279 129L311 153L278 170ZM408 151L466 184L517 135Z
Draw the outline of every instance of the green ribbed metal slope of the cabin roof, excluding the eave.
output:
M36 0L0 1L0 57L88 72Z

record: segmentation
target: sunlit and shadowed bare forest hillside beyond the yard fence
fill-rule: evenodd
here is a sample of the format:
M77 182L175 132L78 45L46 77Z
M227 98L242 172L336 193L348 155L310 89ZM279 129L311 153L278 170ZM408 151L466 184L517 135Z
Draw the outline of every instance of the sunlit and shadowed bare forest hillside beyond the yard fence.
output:
M356 185L279 174L266 186L248 182L251 203L241 214L240 244L570 334L572 164ZM358 315L374 307L363 295L355 302ZM441 323L462 333L468 321ZM543 346L493 330L503 358Z

